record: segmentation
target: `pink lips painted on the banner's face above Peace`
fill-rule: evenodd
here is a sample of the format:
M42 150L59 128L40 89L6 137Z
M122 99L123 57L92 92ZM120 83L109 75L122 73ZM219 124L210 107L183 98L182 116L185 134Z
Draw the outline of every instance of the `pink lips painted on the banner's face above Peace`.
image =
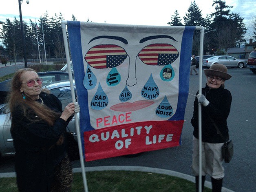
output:
M110 107L110 109L115 111L127 112L127 111L135 111L142 108L146 108L152 104L154 104L153 101L136 101L133 103L126 102L126 103L113 105Z

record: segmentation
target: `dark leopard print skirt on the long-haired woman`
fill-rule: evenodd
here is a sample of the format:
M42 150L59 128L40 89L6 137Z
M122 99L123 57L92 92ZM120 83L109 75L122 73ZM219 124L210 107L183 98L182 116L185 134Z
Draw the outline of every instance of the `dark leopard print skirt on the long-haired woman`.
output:
M53 187L51 192L71 192L73 172L68 155L55 166Z

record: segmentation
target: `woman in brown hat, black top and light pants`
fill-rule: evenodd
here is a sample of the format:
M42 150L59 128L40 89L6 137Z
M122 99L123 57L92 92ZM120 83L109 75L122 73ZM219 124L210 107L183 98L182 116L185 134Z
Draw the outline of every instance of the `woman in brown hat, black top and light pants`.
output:
M227 117L230 113L232 96L229 90L224 88L225 80L232 76L227 73L227 67L223 64L213 64L210 69L203 70L207 84L202 88L202 94L196 93L194 112L191 124L193 132L192 172L196 177L196 191L199 188L199 151L198 151L198 103L202 105L202 191L205 175L212 180L212 191L221 192L224 168L221 147L223 139L216 131L212 120L218 126L222 135L228 138ZM210 119L211 117L211 119Z

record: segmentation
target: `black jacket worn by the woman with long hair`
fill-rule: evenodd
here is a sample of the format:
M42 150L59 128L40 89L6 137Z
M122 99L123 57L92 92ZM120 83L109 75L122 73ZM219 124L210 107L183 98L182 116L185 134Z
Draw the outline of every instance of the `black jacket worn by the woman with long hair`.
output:
M41 93L49 108L62 112L62 104L54 95ZM33 110L29 117L37 118ZM15 171L20 192L47 192L50 190L56 158L65 153L64 145L53 147L69 121L57 118L53 126L45 121L31 121L24 117L20 104L12 116L11 135L15 147Z

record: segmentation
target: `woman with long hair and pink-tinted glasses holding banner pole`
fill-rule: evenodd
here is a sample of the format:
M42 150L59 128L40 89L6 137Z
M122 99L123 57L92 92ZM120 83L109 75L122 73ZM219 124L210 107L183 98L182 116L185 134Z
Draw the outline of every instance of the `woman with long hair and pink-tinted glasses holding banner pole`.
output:
M42 91L42 79L35 70L24 68L13 76L9 109L15 148L15 171L21 192L71 190L72 168L64 146L64 132L79 105L68 104ZM65 165L65 166L63 166ZM56 187L62 169L66 185ZM53 184L54 183L54 184Z

